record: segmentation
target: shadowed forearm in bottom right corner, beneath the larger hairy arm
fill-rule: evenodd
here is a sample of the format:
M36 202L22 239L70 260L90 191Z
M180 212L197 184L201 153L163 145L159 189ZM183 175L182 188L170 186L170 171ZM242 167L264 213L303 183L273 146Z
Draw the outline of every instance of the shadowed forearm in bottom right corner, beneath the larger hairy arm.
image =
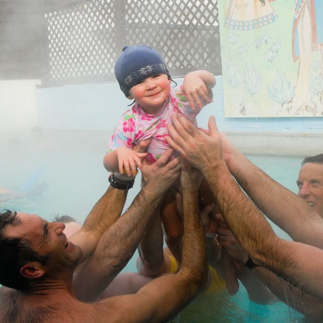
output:
M322 300L305 294L263 267L254 268L252 271L282 302L305 315L311 322L321 322L323 317Z

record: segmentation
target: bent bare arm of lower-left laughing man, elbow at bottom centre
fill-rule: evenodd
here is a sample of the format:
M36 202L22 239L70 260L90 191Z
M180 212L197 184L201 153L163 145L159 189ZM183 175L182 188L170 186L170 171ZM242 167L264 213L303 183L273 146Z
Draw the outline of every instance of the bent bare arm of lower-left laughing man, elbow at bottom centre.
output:
M167 321L202 288L207 276L204 231L199 218L197 187L188 180L189 174L185 176L183 179L182 171L185 221L183 263L180 271L153 280L134 295L112 297L96 304L97 310L105 312L106 306L110 305L111 321Z

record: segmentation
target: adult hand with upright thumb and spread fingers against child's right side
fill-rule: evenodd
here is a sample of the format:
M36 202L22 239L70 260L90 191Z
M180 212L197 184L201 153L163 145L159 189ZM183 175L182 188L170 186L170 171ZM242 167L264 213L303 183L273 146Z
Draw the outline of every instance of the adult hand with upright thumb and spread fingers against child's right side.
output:
M181 114L173 115L172 121L173 124L168 125L171 137L166 137L166 140L194 167L206 171L210 166L214 169L218 163L222 163L221 138L214 116L211 116L208 121L209 136L195 128Z

